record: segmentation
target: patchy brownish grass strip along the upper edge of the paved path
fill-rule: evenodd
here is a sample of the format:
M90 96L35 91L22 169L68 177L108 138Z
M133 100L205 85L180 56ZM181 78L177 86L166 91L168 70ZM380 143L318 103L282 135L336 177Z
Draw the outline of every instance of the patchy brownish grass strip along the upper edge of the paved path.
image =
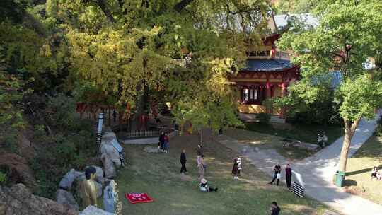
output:
M293 160L301 160L312 156L316 151L308 151L305 149L296 149L294 147L282 146L285 137L274 136L265 133L253 132L244 129L227 129L226 135L231 136L233 139L237 139L241 144L248 144L250 146L256 146L259 149L275 149L279 154L285 158Z

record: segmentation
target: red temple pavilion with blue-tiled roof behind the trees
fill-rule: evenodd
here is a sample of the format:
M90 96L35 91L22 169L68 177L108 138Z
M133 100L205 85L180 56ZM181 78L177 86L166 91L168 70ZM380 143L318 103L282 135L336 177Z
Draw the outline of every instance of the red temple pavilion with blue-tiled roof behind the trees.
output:
M276 32L277 27L279 26L272 16L268 21L268 28ZM263 101L283 97L288 86L299 79L299 66L291 64L289 53L278 50L275 45L279 37L279 34L274 33L265 37L260 47L248 47L245 68L229 77L240 93L238 110L246 120L261 112L283 118L283 110L266 110Z

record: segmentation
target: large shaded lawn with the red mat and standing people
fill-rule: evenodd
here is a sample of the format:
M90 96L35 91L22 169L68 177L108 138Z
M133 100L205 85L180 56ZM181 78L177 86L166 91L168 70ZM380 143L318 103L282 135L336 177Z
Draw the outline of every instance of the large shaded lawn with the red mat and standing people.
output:
M272 201L279 203L282 215L323 214L323 204L309 198L295 197L284 185L267 185L270 180L246 161L241 180L233 181L232 161L236 153L208 141L204 143L207 162L205 178L219 192L199 192L196 153L199 137L176 136L170 140L169 153L145 153L144 146L126 145L128 166L116 181L123 214L269 214ZM204 137L209 140L209 138ZM179 156L186 149L189 175L180 175ZM154 202L130 204L123 194L147 192Z

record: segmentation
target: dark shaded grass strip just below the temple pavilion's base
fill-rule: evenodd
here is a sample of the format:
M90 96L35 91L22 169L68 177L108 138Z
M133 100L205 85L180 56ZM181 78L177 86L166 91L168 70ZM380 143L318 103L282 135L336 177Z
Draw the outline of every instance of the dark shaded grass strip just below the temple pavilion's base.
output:
M344 134L343 128L340 125L319 126L311 124L294 124L285 128L272 127L272 125L260 124L258 122L245 123L245 129L254 132L272 134L282 136L288 139L296 139L309 144L317 144L317 132L325 131L328 136L328 144L331 144L336 139Z

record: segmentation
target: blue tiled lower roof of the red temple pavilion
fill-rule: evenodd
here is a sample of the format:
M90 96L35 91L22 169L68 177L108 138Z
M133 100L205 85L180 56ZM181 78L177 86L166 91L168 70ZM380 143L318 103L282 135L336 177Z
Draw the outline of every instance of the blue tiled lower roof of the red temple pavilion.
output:
M247 71L279 71L290 68L289 60L283 59L248 59Z

